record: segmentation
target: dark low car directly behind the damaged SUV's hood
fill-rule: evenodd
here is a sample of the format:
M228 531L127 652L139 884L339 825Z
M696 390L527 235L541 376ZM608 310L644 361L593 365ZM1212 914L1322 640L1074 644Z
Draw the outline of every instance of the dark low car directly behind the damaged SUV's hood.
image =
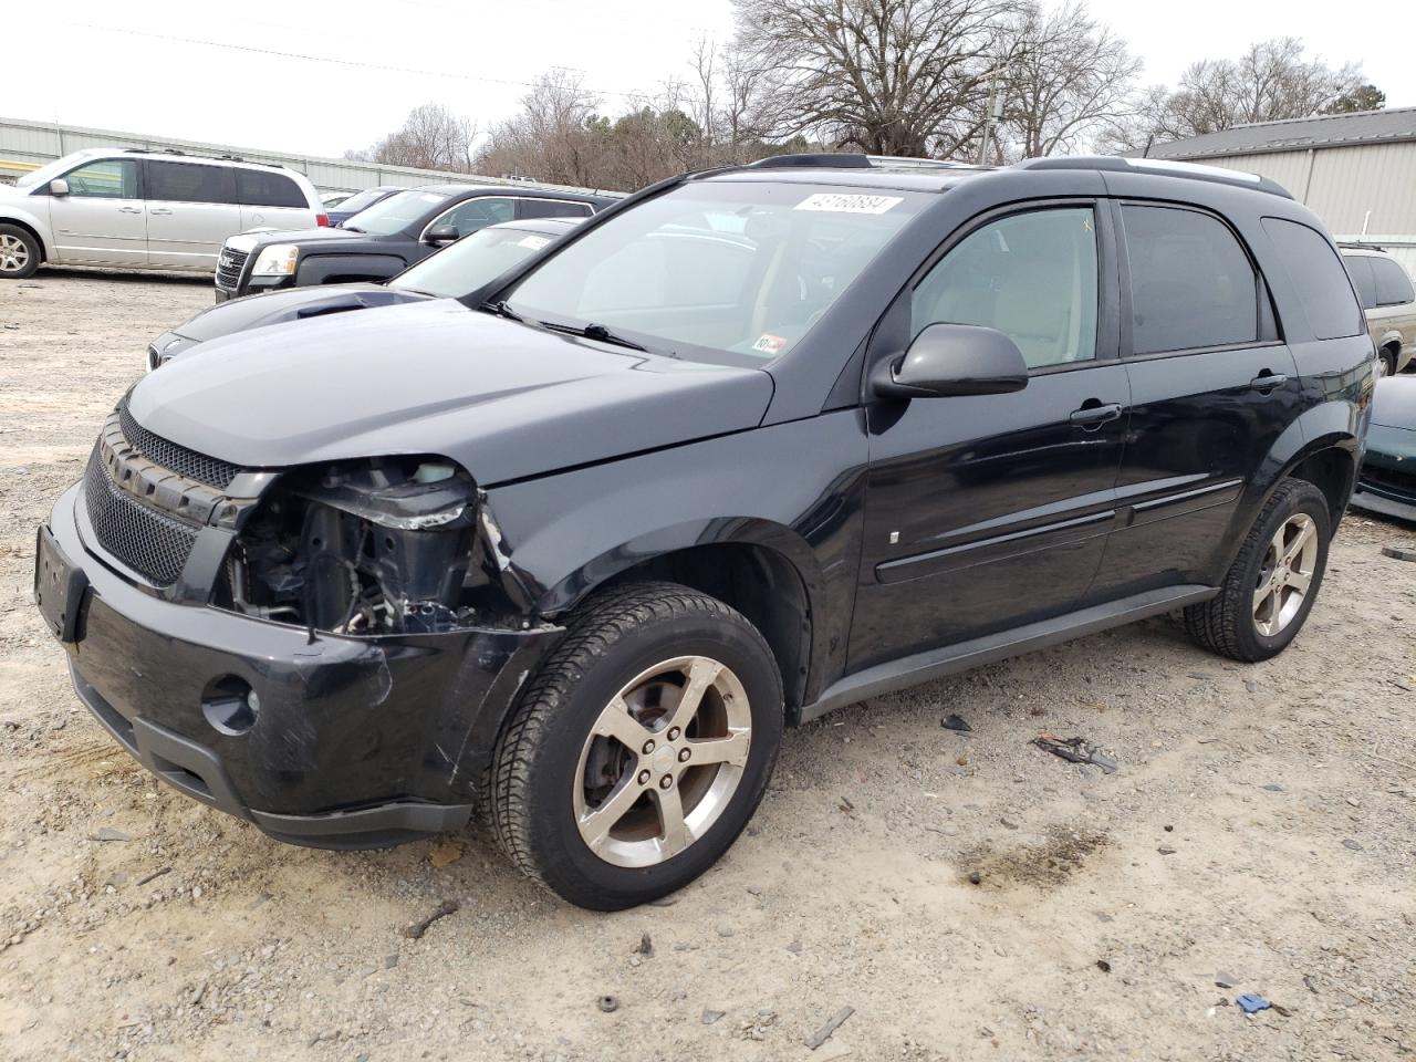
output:
M266 297L231 299L201 310L184 324L147 344L147 371L202 343L268 324L309 320L330 313L372 310L425 299L457 299L554 244L581 218L504 221L463 236L456 244L409 266L387 283L290 287ZM467 313L472 309L464 307Z

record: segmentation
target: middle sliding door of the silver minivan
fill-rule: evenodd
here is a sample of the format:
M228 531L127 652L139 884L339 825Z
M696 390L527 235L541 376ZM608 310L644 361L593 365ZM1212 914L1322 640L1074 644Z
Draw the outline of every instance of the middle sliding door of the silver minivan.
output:
M231 167L157 159L143 167L149 263L214 272L221 245L241 231Z

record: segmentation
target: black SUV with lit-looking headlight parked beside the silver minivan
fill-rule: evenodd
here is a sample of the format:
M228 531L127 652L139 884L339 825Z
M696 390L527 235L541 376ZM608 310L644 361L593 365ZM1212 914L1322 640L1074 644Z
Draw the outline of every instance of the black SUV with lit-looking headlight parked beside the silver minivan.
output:
M498 221L585 218L603 195L443 184L389 195L343 228L232 236L221 249L217 302L285 287L387 280L433 251Z

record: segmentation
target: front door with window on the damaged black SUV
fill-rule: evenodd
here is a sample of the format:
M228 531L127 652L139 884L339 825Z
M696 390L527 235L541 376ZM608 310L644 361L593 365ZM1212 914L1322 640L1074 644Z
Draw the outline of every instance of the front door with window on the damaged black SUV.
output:
M1008 395L869 405L851 671L1068 612L1092 583L1130 406L1109 229L1092 201L995 218L908 293L905 338L997 329L1031 375Z

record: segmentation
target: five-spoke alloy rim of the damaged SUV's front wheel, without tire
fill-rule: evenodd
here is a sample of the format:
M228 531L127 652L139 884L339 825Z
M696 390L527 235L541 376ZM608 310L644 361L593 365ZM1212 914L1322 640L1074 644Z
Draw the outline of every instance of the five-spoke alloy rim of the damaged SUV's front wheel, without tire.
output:
M674 858L722 816L750 743L748 694L726 664L691 656L641 671L605 705L581 750L581 838L616 867Z

